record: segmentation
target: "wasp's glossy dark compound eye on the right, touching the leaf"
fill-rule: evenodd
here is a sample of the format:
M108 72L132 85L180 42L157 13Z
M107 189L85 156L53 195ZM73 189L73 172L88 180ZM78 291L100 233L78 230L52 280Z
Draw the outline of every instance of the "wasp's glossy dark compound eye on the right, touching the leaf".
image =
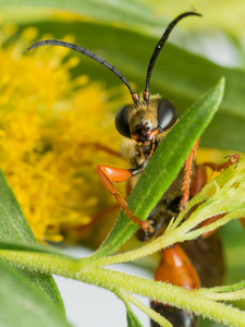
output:
M158 102L158 128L164 132L173 126L179 118L173 102L167 99L159 99Z

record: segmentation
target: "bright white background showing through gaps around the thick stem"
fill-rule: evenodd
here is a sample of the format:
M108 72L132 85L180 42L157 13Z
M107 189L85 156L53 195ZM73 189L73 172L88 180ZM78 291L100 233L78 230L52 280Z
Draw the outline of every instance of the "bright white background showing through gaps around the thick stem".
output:
M65 251L74 257L88 256L91 251L73 247ZM128 264L114 265L113 269L135 276L151 278L149 272ZM113 293L83 282L54 276L64 301L68 320L75 327L126 327L125 305ZM145 305L149 300L135 295ZM149 317L133 306L144 327L150 326Z

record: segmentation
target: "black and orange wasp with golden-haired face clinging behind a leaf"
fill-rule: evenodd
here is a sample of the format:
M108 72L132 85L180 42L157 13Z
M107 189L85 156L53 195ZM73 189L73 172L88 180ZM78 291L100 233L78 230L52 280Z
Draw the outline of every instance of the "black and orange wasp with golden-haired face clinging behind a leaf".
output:
M128 218L138 225L139 229L136 235L142 241L147 241L160 234L169 221L173 217L176 217L180 210L186 206L189 196L200 191L207 182L205 167L209 166L213 170L221 170L237 161L237 158L232 156L228 162L220 166L207 162L197 167L195 164L195 153L198 146L197 141L179 175L162 195L146 221L140 220L130 210L126 202L115 187L115 183L128 179L131 181L131 189L135 186L159 143L164 141L167 133L179 119L177 110L171 100L158 95L150 95L149 82L155 62L173 27L182 19L191 15L201 16L196 12L185 12L175 17L167 26L150 58L146 74L146 86L140 97L115 66L81 46L57 39L47 39L38 41L28 48L30 50L51 45L75 50L109 69L128 88L133 101L130 105L123 106L118 111L115 128L122 136L127 138L128 157L133 168L120 169L99 165L96 170L102 184L118 201ZM215 233L204 237L198 241L185 242L183 245L175 244L170 249L163 250L155 279L168 281L187 289L195 289L199 288L201 283L206 287L221 283L223 271L222 247L218 234ZM177 310L158 302L151 302L151 306L166 316L175 327L197 326L197 318L191 312ZM156 323L151 322L151 326L156 326Z

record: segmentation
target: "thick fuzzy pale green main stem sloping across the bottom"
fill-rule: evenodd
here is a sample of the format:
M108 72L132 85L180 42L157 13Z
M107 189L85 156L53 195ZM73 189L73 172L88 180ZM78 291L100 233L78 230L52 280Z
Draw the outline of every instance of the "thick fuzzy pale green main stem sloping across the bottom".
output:
M105 268L89 267L81 270L77 261L48 254L0 251L0 256L19 267L38 270L44 274L56 274L111 291L120 287L124 291L148 296L183 310L191 310L197 315L203 315L228 326L245 326L244 312L198 295L196 291Z

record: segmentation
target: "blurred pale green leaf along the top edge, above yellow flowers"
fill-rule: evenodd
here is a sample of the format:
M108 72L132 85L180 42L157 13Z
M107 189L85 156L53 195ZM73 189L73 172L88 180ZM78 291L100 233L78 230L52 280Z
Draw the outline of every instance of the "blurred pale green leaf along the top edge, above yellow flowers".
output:
M4 0L0 0L0 5L2 7L2 11L12 8L12 13L7 12L7 15L15 17L19 22L23 22L23 16L25 20L29 21L29 11L34 12L35 17L35 12L37 12L37 10L34 10L35 8L38 8L38 11L40 9L44 10L44 8L65 10L81 14L82 16L89 16L97 22L117 22L117 24L122 24L124 26L128 25L131 28L138 32L149 32L149 29L154 31L156 27L162 27L163 21L162 17L156 17L156 15L152 14L154 9L150 8L150 5L135 0L115 1L114 3L108 0L63 0L62 2L58 0L14 0L9 2L8 5ZM22 17L17 16L19 7L22 9ZM13 13L13 8L15 9L15 15ZM23 10L23 8L25 10ZM47 11L42 11L41 13L47 17Z

